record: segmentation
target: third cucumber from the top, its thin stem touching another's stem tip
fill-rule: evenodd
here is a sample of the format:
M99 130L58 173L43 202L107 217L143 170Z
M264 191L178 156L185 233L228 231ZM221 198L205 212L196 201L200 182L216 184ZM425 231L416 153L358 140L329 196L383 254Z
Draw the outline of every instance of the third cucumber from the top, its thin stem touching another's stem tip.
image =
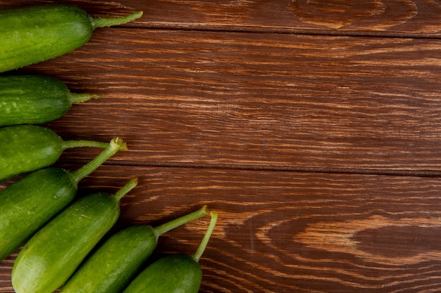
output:
M5 126L0 128L0 181L49 167L67 148L107 146L97 141L63 141L44 126Z

